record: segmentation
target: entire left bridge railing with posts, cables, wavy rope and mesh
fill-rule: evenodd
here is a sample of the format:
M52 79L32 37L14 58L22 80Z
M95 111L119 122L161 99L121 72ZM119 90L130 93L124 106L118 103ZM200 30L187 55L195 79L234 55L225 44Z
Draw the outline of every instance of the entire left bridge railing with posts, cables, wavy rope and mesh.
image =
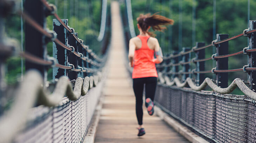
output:
M1 1L0 4L4 8L6 4L13 7L14 1L9 2ZM46 0L26 0L24 6L24 12L17 10L17 13L25 20L25 52L5 45L0 32L0 53L5 55L0 59L1 69L10 55L20 55L26 62L26 74L14 91L11 109L0 117L0 142L82 142L107 70L107 27L110 24L107 0L102 0L102 14L106 15L102 18L106 19L101 21L106 28L101 27L98 37L102 43L101 57L78 38L67 19L59 18L54 5ZM56 18L54 31L46 29L49 15ZM48 42L53 42L53 57L47 55ZM51 67L53 81L48 82L47 70ZM1 96L4 96L7 91L2 89Z

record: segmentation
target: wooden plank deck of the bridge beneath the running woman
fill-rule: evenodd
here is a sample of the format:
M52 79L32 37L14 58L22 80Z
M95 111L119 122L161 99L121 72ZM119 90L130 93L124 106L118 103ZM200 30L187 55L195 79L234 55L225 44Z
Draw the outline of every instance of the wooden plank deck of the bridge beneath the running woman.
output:
M138 137L135 96L128 71L124 66L124 38L119 5L112 2L112 45L109 75L103 90L103 101L96 143L183 143L183 136L156 115L149 116L143 105L143 125L146 134Z

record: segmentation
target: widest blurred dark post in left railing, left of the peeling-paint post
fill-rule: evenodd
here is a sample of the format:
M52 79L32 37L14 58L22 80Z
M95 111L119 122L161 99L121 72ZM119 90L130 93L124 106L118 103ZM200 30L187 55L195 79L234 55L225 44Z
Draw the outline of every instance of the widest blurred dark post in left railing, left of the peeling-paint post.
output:
M26 0L24 3L24 10L33 20L35 20L35 22L43 28L46 28L46 13L41 1ZM25 51L38 58L47 58L46 37L27 22L25 22ZM44 81L47 81L45 66L25 60L25 67L26 71L29 69L39 70Z

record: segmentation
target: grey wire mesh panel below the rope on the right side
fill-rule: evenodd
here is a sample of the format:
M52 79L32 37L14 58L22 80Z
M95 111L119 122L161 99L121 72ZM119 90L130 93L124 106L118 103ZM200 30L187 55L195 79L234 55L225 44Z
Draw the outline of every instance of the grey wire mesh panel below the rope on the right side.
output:
M256 106L248 97L159 84L155 103L210 142L256 142Z

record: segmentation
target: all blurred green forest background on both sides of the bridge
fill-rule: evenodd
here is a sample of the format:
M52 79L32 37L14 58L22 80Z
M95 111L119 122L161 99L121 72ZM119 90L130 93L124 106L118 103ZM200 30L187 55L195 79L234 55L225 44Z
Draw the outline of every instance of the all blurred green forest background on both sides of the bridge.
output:
M24 0L23 0L24 1ZM156 32L160 46L164 54L178 50L178 26L179 26L179 0L131 0L136 34L139 34L136 17L141 13L156 13L169 17L175 21L165 32ZM48 0L58 7L60 18L69 19L68 25L79 32L79 38L85 40L96 53L100 49L96 42L99 34L101 20L101 0ZM108 1L110 2L110 1ZM119 0L123 12L125 1ZM228 33L229 36L241 33L247 26L247 2L248 0L216 0L216 33ZM196 5L196 42L210 44L213 40L213 0L195 0ZM193 47L192 42L192 8L193 0L182 0L182 47ZM53 16L47 17L47 28L52 29ZM256 2L250 2L250 20L256 20ZM16 38L21 37L20 16L10 15L5 19L5 35ZM241 37L229 42L229 53L241 51L248 46L247 37ZM206 58L213 54L214 47L206 49ZM47 45L48 55L52 56L52 43ZM229 58L229 69L241 68L247 65L248 57L238 55ZM193 65L193 64L192 64ZM215 66L213 61L206 62L206 70ZM192 69L195 68L192 66ZM20 57L8 58L6 62L6 81L15 83L21 73ZM206 74L213 77L212 74ZM248 79L248 74L243 72L229 73L229 84L236 78ZM48 71L48 79L52 78L52 71ZM234 94L242 94L235 90Z

